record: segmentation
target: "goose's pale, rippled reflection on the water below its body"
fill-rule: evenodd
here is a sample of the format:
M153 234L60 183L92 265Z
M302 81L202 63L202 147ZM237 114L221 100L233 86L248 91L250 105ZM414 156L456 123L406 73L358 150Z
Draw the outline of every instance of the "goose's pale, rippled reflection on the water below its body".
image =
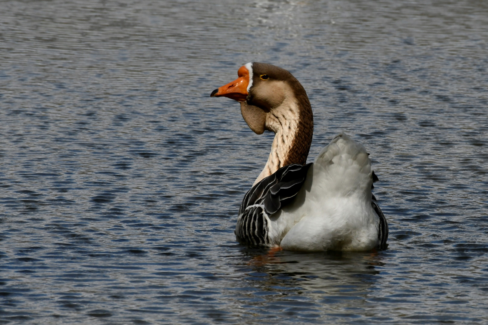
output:
M260 304L276 303L292 294L295 301L296 294L303 292L312 305L320 300L321 304L341 302L341 309L360 307L382 279L379 268L385 265L381 252L296 253L249 248L241 252L249 268L245 285L261 290L252 293L264 299ZM277 299L276 295L283 297Z

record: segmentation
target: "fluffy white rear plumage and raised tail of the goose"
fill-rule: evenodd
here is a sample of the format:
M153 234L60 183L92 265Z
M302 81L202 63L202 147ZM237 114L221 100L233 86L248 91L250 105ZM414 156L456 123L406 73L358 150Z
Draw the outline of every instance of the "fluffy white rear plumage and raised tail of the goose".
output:
M378 246L372 183L366 149L338 134L315 159L295 200L269 218L270 246L303 251Z

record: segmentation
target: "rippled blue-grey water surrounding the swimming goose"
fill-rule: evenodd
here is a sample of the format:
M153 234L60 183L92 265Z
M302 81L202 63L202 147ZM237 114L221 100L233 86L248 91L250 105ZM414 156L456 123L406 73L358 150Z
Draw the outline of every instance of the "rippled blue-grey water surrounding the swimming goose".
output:
M397 2L1 1L0 324L485 324L488 5ZM235 242L272 134L209 94L249 61L310 161L366 146L388 249Z

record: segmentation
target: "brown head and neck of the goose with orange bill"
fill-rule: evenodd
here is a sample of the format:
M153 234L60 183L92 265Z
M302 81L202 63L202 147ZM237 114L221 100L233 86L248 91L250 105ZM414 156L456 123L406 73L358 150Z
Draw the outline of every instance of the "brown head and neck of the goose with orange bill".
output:
M247 63L237 75L210 96L238 101L245 122L256 134L276 134L260 177L288 164L304 165L313 134L313 115L304 87L287 70L267 63Z

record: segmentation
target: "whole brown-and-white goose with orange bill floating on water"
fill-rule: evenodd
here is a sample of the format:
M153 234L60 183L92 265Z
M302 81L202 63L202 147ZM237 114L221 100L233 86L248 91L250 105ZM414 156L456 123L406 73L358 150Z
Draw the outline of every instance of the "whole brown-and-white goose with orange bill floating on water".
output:
M267 63L249 62L237 74L210 96L238 101L256 134L275 133L239 209L237 241L293 251L386 248L388 225L371 192L378 177L365 147L342 132L307 164L313 114L304 87Z

